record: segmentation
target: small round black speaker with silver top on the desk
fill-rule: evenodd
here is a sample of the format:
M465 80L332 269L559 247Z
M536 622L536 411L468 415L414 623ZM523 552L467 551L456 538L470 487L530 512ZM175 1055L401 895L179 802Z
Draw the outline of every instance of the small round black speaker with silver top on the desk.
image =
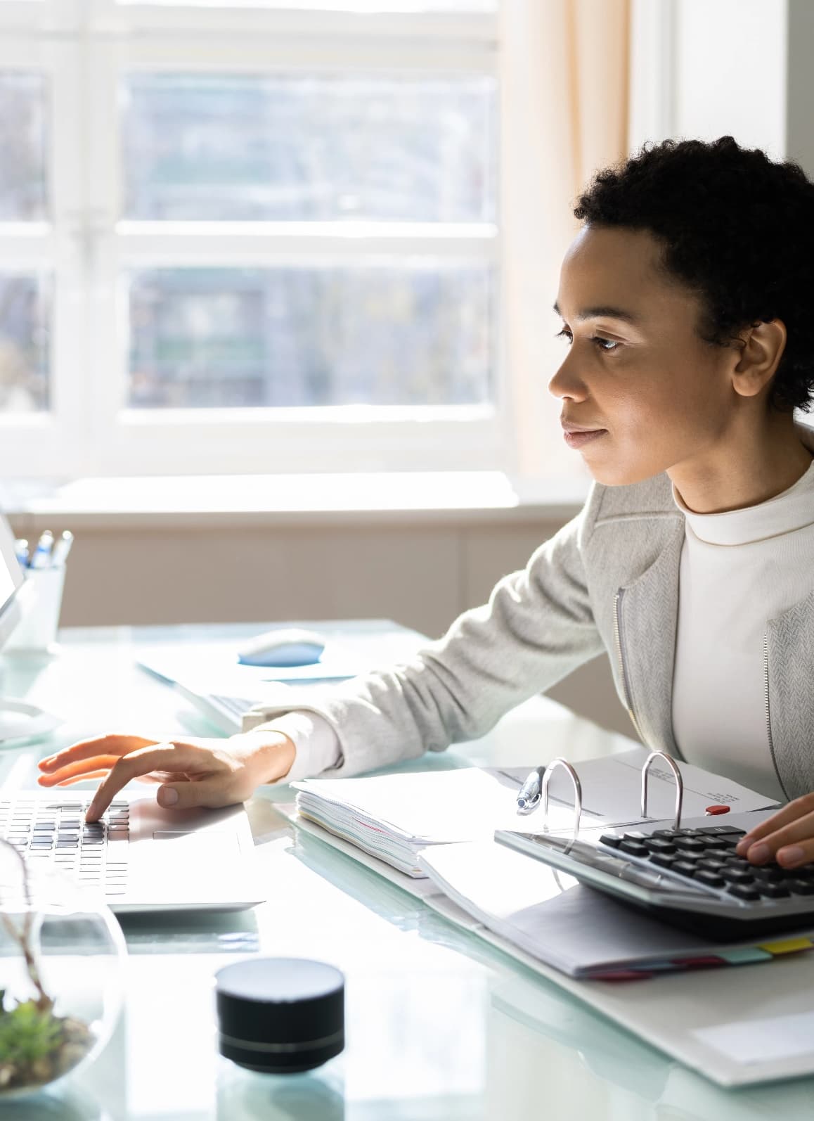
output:
M250 957L215 974L220 1051L250 1071L295 1074L345 1045L344 976L302 957Z

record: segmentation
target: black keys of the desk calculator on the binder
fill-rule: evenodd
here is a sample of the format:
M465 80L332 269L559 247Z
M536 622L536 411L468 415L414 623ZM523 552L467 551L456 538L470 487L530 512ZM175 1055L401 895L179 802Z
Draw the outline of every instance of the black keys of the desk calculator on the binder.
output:
M620 854L692 880L716 895L760 902L814 896L814 867L787 869L776 861L750 864L736 853L744 830L711 825L697 830L653 833L605 833L600 843Z

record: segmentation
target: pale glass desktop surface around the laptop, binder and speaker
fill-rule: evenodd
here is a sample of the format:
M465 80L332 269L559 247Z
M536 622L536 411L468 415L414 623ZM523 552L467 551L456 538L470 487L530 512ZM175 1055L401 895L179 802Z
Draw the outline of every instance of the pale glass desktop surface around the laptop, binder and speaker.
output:
M192 641L253 630L186 627L161 634ZM3 786L30 786L37 759L102 731L215 734L133 666L133 642L157 636L155 628L75 629L63 632L57 658L0 658L0 693L65 720L47 740L0 752ZM410 766L579 760L626 747L622 736L538 697L483 740ZM111 1043L92 1068L53 1094L6 1105L2 1121L796 1121L814 1114L814 1078L721 1090L357 862L296 835L276 800L290 800L285 787L265 788L248 804L268 901L231 915L124 919L127 999ZM213 974L253 953L313 956L345 973L348 1046L322 1078L272 1083L218 1055Z

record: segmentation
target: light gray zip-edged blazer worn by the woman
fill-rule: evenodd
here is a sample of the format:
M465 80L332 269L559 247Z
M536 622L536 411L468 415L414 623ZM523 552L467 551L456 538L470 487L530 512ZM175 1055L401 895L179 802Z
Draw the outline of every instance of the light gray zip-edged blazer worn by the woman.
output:
M814 451L814 437L801 433ZM259 706L244 730L290 708L335 728L358 773L485 734L509 708L607 650L617 692L642 742L681 758L673 739L673 663L684 516L666 475L594 484L580 515L410 663L283 706ZM764 637L767 742L788 798L814 790L814 592L769 619Z

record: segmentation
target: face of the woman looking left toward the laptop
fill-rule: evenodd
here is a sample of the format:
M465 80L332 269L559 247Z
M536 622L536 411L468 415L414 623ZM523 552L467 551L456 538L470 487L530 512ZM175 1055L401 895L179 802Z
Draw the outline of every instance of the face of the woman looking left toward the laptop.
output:
M659 266L656 239L584 226L555 311L567 353L548 388L594 479L619 485L703 463L734 416L739 353L699 337L700 302Z

